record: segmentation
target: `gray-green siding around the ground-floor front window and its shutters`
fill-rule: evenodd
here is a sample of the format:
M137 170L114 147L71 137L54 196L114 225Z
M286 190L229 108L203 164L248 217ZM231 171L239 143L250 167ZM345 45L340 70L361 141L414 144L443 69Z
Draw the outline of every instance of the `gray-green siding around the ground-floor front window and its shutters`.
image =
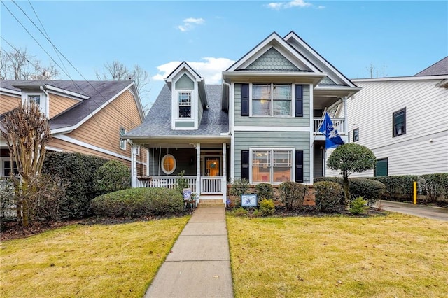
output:
M304 183L310 183L308 132L235 132L235 178L241 178L241 150L249 150L249 148L255 147L293 147L295 150L302 150Z

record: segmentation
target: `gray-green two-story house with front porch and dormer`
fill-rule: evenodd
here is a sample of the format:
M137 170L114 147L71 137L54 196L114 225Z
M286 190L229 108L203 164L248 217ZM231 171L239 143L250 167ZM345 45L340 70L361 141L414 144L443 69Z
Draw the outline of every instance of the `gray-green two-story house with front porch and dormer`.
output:
M133 186L173 187L185 171L201 199L224 201L229 180L322 176L323 111L360 90L294 32L269 35L223 72L222 85L206 85L186 62L165 80L144 123L125 136L149 151L148 177L133 172ZM333 122L347 141L346 120Z

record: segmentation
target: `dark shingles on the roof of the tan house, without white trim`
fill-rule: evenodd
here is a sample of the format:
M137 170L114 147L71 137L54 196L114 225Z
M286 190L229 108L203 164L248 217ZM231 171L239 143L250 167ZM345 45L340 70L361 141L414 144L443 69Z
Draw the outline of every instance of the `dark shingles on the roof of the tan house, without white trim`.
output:
M27 85L38 87L41 85L51 85L88 96L89 99L81 100L75 106L50 119L51 129L59 129L78 124L78 122L90 115L99 106L102 106L106 101L116 96L116 94L124 90L131 83L132 80L1 80L0 87L20 91L18 87L14 86Z

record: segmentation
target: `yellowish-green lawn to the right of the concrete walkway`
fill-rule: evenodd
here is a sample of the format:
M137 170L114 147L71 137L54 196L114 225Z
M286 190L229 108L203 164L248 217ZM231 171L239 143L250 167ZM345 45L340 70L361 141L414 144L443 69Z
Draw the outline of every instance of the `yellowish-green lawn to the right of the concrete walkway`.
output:
M448 297L448 222L228 216L235 297Z

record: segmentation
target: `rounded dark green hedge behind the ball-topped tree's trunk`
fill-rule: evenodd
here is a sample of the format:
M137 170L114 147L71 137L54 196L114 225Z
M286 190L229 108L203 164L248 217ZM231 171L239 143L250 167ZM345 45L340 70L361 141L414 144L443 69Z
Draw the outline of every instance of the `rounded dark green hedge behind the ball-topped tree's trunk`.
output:
M315 183L320 181L335 182L341 186L344 184L344 180L341 177L314 178ZM357 197L364 197L370 204L381 199L386 191L383 183L369 178L349 178L349 187L352 200Z

